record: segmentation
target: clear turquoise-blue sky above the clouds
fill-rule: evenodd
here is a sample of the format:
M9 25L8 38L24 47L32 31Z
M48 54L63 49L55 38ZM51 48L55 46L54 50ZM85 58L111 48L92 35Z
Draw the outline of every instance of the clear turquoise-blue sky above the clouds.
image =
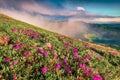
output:
M37 0L51 8L76 10L77 6L87 12L109 16L120 16L120 0Z

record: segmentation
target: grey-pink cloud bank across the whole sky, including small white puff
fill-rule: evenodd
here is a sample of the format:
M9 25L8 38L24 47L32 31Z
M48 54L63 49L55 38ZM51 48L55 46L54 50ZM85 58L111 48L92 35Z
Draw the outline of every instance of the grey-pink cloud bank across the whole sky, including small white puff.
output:
M51 7L50 3L40 3L36 0L0 0L0 12L5 13L4 11L11 11L13 14L15 12L26 13L28 15L38 15L44 19L61 20L60 17L63 17L66 20L76 19L83 20L84 22L120 22L120 17L113 17L107 15L98 15L94 13L89 13L85 11L84 7L78 6L76 10L70 10L66 8L55 8ZM6 13L7 14L7 13ZM10 14L8 14L11 16ZM117 19L116 19L117 18ZM104 20L105 19L105 20ZM112 20L111 20L112 19ZM107 21L108 20L108 21Z

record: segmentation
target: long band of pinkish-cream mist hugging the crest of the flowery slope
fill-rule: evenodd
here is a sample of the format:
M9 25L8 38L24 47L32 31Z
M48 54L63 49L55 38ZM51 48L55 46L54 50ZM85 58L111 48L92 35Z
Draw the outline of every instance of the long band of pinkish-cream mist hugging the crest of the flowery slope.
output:
M64 21L49 21L41 15L33 15L26 11L18 11L15 9L0 8L0 13L8 15L14 19L27 22L37 27L57 32L70 37L87 32L88 24L81 21L74 21L71 19Z

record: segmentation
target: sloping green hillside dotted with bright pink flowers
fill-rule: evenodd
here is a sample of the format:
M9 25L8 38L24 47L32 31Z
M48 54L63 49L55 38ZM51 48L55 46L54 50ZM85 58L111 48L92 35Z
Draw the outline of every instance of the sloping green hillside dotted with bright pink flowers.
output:
M0 80L120 80L120 52L0 14Z

